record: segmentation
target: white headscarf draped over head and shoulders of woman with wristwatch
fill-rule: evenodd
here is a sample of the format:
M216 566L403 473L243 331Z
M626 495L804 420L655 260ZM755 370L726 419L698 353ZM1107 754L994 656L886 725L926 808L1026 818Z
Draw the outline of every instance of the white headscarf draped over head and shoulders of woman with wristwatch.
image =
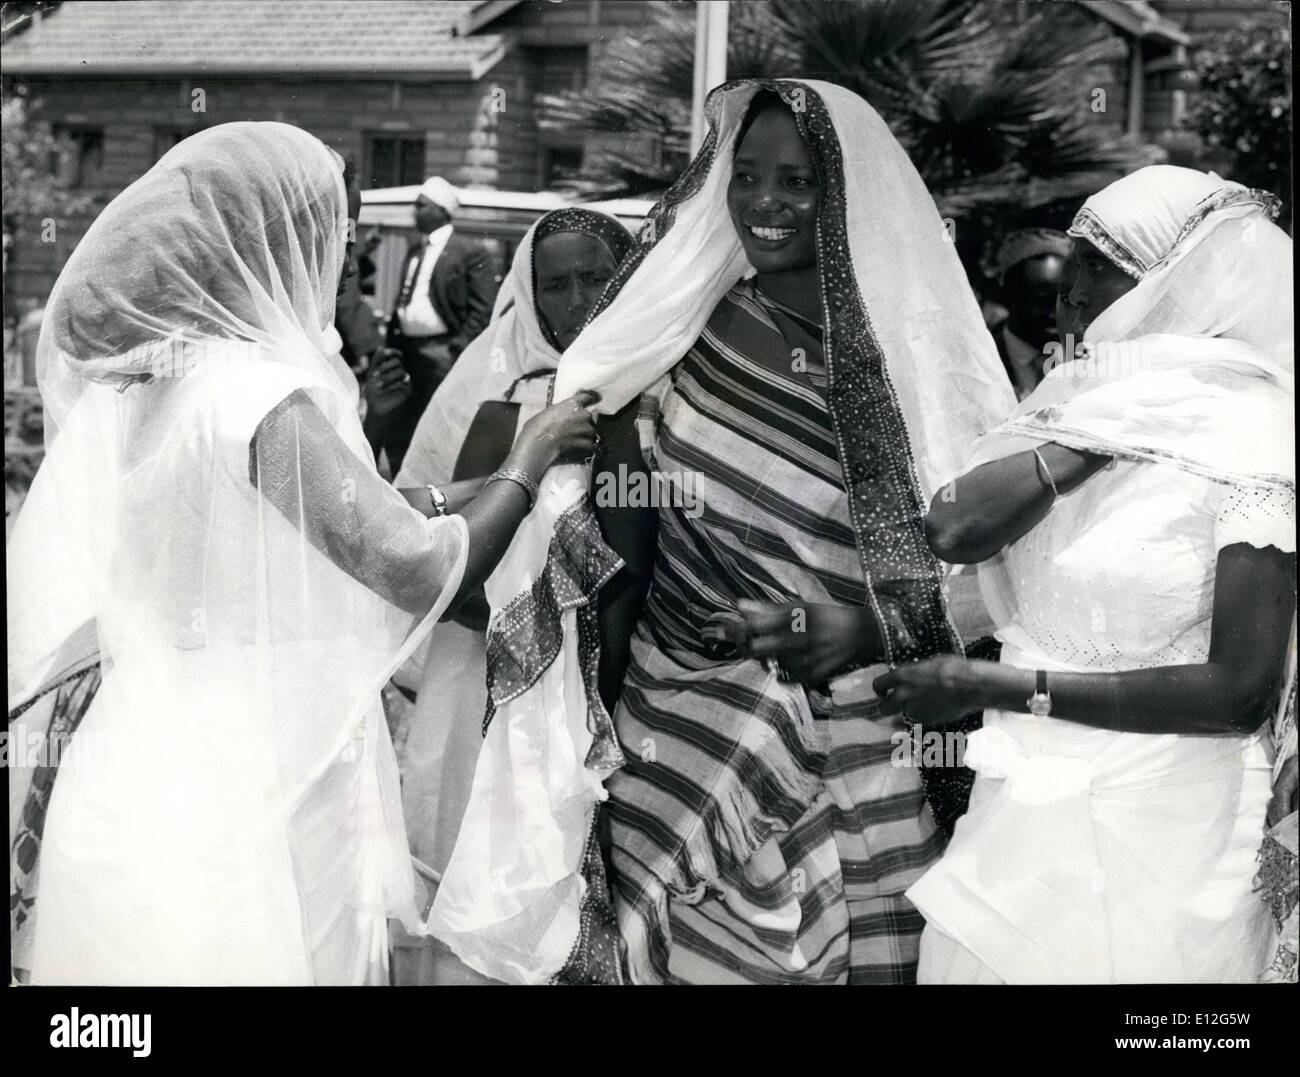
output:
M1291 238L1278 200L1154 165L1089 198L1070 228L1138 285L1088 326L970 467L1043 441L1295 486Z

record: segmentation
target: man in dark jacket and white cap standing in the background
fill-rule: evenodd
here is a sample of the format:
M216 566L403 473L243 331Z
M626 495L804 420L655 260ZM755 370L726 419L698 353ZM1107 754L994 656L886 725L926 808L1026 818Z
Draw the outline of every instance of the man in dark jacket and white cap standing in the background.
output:
M497 298L491 254L455 233L452 219L459 208L455 189L441 176L426 180L415 202L420 239L402 264L402 289L387 332L411 392L394 410L368 423L372 445L385 450L394 475L434 389L488 326Z

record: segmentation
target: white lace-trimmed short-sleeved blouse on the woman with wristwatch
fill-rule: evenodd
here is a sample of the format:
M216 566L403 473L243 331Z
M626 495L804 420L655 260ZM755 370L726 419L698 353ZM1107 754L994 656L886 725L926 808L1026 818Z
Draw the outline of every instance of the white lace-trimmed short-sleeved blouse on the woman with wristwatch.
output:
M1295 494L1121 460L979 568L998 639L1063 666L1206 661L1218 552L1295 550Z

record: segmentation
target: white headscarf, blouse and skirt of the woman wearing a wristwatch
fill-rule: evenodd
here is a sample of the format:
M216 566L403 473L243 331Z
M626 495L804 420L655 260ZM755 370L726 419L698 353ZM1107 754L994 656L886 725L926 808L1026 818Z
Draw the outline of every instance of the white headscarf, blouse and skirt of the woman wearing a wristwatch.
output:
M1054 441L1118 458L979 566L1002 661L1048 671L1205 662L1214 570L1295 550L1291 241L1275 200L1143 169L1071 233L1138 285L1088 328L971 467ZM1126 264L1127 263L1127 264ZM922 981L1253 981L1266 730L1175 736L987 711L944 858L909 891Z

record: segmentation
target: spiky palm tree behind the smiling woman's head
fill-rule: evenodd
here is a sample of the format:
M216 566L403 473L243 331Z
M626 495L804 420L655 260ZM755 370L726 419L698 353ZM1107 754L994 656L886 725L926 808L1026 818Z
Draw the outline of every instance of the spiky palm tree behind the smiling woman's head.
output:
M658 193L686 164L694 25L680 4L655 8L641 39L610 47L592 88L540 99L542 126L623 143L588 155L567 185L580 196ZM1091 114L1097 69L1122 57L1072 5L763 0L731 5L727 72L822 78L871 101L974 267L1002 232L1060 226L1088 194L1150 163L1150 147ZM638 143L658 152L633 152Z

